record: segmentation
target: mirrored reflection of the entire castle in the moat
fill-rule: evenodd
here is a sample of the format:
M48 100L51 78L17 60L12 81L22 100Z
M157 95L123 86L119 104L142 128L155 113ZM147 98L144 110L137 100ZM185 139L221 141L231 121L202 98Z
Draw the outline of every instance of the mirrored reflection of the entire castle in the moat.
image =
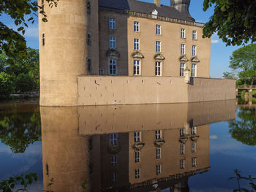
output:
M56 192L84 181L89 191L188 191L189 176L208 170L208 123L235 118L235 105L41 107L45 190L53 178Z

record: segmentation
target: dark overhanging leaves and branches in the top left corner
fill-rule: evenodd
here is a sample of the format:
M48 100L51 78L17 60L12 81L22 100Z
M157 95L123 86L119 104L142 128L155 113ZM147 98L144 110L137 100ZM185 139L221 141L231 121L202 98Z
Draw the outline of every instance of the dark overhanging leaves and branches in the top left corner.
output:
M59 0L45 0L50 7L53 4L57 6ZM47 21L47 15L42 7L38 7L37 0L1 0L0 17L9 15L13 20L17 30L8 27L6 24L0 22L0 54L4 52L9 57L8 61L12 64L13 58L26 57L26 40L25 34L28 22L34 23L34 17L37 17L37 10L43 15L42 21ZM28 19L26 19L28 18ZM20 32L22 34L20 34Z

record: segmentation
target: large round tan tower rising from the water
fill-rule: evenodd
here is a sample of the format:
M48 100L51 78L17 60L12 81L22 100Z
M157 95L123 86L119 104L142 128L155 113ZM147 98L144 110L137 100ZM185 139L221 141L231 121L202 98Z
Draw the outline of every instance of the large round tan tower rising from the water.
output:
M39 0L40 105L77 105L78 75L99 72L98 1ZM94 42L93 44L91 42Z

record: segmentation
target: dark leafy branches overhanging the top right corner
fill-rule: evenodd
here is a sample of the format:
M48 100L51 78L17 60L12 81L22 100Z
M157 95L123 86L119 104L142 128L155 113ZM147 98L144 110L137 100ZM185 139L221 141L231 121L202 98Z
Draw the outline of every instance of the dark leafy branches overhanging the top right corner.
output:
M203 10L214 6L214 15L203 28L203 37L217 32L226 45L256 40L256 0L204 0Z

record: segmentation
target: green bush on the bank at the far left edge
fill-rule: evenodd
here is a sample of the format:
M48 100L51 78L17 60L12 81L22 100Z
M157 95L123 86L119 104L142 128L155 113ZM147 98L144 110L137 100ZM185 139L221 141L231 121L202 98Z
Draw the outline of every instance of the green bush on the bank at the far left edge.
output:
M12 93L12 80L9 74L0 72L0 98L6 98Z

